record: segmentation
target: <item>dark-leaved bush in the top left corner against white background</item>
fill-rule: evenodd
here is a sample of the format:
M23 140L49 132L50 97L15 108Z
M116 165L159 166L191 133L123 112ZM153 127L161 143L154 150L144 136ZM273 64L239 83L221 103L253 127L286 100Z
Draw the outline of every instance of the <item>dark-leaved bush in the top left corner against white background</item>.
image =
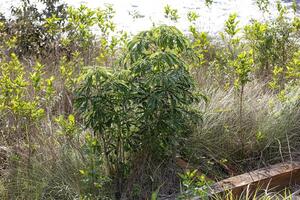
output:
M18 55L45 55L56 38L51 35L50 26L43 26L47 18L63 19L66 16L66 5L59 0L39 1L45 9L39 10L32 1L22 0L20 6L13 7L14 19L9 22L8 29L16 36L16 52ZM64 22L56 20L57 26ZM47 38L47 40L45 40Z

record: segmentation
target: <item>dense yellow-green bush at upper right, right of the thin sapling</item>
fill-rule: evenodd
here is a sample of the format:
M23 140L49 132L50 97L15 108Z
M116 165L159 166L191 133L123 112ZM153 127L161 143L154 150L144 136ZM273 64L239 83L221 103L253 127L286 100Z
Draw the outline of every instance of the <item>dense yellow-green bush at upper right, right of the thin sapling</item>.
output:
M278 6L279 15L273 22L254 21L245 27L245 36L253 50L254 64L258 77L265 78L273 73L271 87L282 89L285 81L288 62L298 49L297 19L289 21L286 9ZM289 49L289 53L286 52ZM282 73L279 75L278 71ZM277 81L274 82L274 79ZM275 85L274 85L275 84Z

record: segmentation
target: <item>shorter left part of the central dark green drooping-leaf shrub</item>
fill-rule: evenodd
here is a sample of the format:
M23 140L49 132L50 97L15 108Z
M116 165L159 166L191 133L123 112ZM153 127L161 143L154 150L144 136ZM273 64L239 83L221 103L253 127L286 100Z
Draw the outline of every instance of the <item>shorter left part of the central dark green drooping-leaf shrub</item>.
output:
M76 91L75 106L86 127L93 129L95 141L105 157L108 174L117 180L117 196L122 191L132 129L130 90L126 73L107 69L90 70ZM119 197L117 197L119 198Z

